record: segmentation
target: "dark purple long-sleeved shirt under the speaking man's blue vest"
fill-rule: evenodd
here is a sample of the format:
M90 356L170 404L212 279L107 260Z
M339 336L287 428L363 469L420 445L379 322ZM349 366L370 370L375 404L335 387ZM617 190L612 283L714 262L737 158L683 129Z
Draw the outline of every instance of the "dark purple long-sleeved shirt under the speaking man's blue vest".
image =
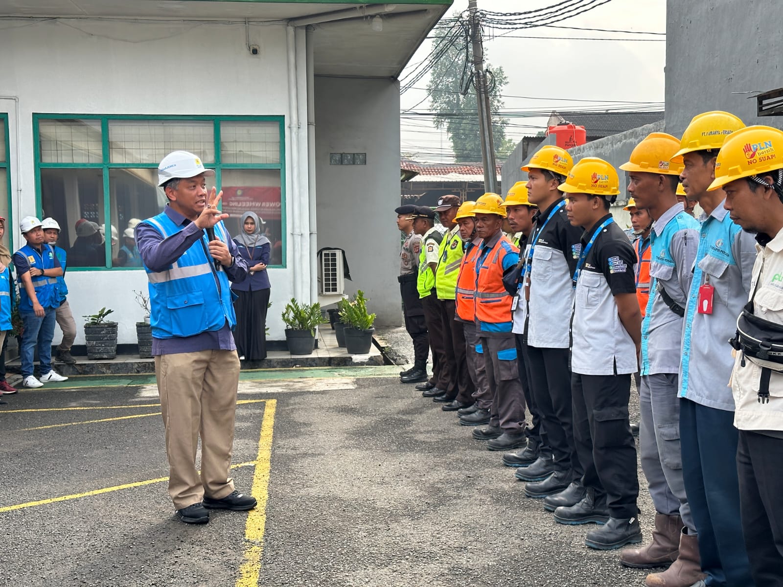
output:
M197 225L187 218L166 206L165 213L177 225L184 228L174 235L164 239L160 232L157 232L152 225L142 222L136 227L136 243L139 247L144 265L150 271L163 271L169 265L174 263L182 254L185 253L194 243L197 243L204 230L199 229ZM228 233L228 231L226 231ZM234 264L231 267L224 267L226 276L231 281L242 281L247 275L247 261L240 255L236 248L236 243L229 238L226 243L229 252L234 256ZM215 300L215 304L219 300ZM174 338L155 338L152 339L153 355L175 355L177 353L187 353L195 351L236 351L234 337L229 328L229 322L220 330L206 331L195 334L192 337L174 337Z

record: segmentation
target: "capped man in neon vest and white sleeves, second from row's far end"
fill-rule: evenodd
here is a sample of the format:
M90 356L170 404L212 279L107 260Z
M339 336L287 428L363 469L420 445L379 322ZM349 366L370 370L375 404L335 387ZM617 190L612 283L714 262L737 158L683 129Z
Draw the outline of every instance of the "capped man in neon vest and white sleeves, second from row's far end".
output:
M446 342L442 335L441 309L438 293L435 291L435 268L438 266L438 248L442 234L435 226L435 211L427 206L417 206L413 211L413 231L422 239L416 281L424 322L427 325L430 349L432 351L432 378L416 386L425 398L434 398L445 393L449 385L446 368ZM442 386L442 387L441 387Z

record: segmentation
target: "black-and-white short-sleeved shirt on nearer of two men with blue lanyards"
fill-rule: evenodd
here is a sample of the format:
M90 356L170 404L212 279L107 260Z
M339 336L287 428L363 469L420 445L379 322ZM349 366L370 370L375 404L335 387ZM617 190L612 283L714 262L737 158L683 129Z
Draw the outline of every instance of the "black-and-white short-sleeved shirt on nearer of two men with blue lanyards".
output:
M582 237L582 250L604 218ZM615 296L636 295L633 264L636 252L626 233L615 223L597 235L587 251L576 281L576 299L572 322L571 369L581 375L617 375L636 373L636 344L620 321Z

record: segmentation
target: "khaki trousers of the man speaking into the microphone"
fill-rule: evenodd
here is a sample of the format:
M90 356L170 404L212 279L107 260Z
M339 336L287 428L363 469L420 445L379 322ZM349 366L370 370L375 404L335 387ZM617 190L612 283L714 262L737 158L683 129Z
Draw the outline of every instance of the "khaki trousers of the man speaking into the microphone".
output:
M166 427L168 495L175 509L222 499L234 491L229 477L234 441L236 351L196 351L155 357L157 390ZM196 467L201 437L201 476Z

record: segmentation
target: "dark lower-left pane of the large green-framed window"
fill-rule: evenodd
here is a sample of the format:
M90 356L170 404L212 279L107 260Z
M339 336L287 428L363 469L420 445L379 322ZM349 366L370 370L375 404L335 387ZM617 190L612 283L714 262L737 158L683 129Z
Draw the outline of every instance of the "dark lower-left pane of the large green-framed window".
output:
M41 217L60 223L59 247L69 267L105 267L103 173L100 169L41 169Z

